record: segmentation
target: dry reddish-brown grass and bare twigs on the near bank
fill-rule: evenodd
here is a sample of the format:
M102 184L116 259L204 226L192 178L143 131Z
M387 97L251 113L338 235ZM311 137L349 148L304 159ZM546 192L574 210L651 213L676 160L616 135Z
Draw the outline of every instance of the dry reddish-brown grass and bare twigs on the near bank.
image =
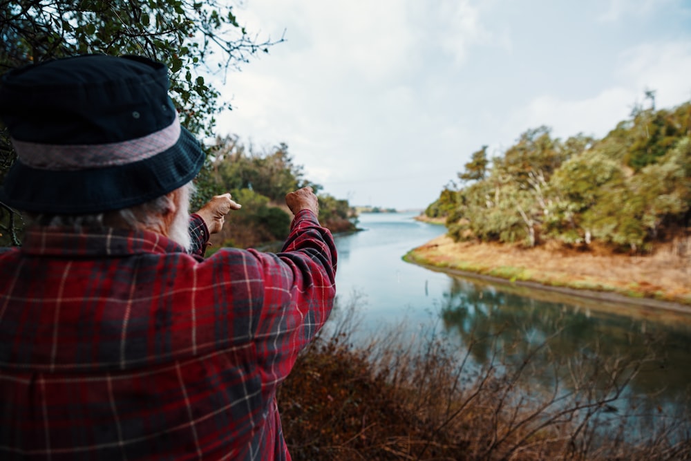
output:
M417 341L404 331L381 332L356 347L357 332L341 320L301 355L278 395L294 460L691 457L688 415L646 420L632 440L634 411L612 412L651 357L605 360L596 348L578 359L553 357L551 369L538 372L553 385L536 391L532 360L551 354L551 338L520 360L505 361L493 344L491 360L477 368L469 352L433 331Z

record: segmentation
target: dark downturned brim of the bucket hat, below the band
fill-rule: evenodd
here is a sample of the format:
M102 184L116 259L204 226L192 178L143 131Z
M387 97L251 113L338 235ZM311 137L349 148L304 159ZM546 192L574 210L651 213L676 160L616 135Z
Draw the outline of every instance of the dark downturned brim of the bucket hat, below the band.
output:
M94 214L133 207L187 184L204 164L205 153L187 129L173 147L120 166L50 171L17 160L0 189L0 201L21 211Z

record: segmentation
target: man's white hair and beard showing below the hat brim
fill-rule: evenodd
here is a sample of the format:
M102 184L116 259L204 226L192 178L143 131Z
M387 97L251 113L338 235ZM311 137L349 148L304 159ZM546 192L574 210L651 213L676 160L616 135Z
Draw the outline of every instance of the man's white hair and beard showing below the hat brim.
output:
M189 251L192 245L189 235L189 200L196 191L196 187L192 182L188 182L178 190L180 191L180 200L176 207L173 222L168 229L168 236L172 241ZM32 223L44 227L74 227L77 230L84 227L117 227L129 230L160 229L164 227L164 214L175 206L176 204L171 202L171 198L165 195L141 205L104 213L35 214L28 217Z

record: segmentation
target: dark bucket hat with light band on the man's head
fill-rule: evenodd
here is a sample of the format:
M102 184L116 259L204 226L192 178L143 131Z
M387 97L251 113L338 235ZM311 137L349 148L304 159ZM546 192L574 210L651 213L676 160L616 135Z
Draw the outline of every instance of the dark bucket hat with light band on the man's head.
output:
M23 211L91 214L145 203L202 168L180 126L167 68L144 57L84 55L12 70L0 118L17 162L0 200Z

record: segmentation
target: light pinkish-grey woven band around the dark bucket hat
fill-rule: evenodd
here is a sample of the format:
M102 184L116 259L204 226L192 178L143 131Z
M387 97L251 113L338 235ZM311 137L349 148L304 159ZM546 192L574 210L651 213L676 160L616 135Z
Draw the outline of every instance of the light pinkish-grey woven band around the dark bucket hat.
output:
M116 167L146 160L173 147L180 138L178 116L166 128L133 140L108 144L38 144L12 138L23 164L35 169L75 171Z

